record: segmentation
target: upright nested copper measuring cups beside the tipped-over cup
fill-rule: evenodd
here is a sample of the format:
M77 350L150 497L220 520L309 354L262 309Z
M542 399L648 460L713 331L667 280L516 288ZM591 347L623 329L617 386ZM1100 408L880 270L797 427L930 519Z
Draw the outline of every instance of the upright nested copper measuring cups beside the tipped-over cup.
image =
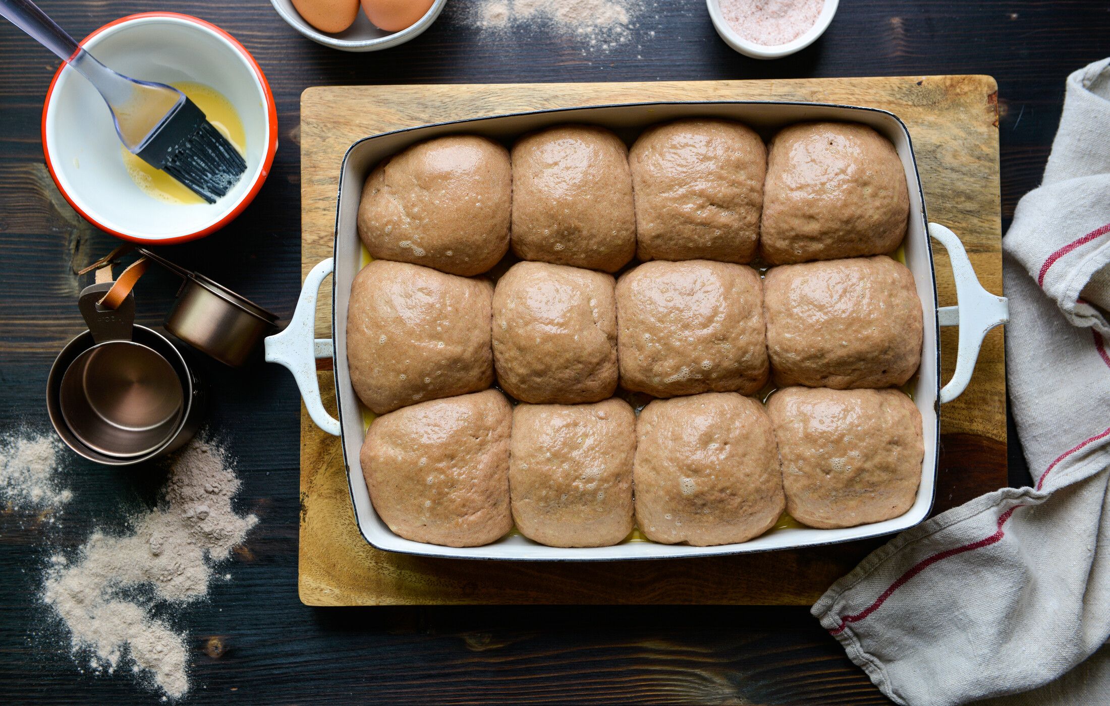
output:
M115 309L99 302L104 282L81 291L89 330L58 354L47 380L47 412L70 448L108 465L169 453L200 426L205 395L176 347L134 324L134 296Z

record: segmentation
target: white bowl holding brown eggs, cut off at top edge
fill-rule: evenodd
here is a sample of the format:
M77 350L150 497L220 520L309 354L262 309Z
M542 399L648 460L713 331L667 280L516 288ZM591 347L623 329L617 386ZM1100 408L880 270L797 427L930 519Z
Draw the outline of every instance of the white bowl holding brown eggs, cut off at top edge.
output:
M270 0L312 41L341 51L377 51L420 37L447 0Z

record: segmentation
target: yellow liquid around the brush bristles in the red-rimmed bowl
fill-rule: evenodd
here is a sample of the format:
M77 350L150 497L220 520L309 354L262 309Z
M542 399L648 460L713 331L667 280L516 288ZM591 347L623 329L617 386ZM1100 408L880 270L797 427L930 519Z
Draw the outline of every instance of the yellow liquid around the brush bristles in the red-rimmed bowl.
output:
M172 85L204 111L212 127L234 144L240 154L246 153L246 131L243 129L243 121L240 120L231 101L215 89L203 83L181 81ZM154 169L129 152L123 145L120 145L120 154L123 158L123 168L131 176L131 181L151 199L176 205L209 205L176 179L162 170Z

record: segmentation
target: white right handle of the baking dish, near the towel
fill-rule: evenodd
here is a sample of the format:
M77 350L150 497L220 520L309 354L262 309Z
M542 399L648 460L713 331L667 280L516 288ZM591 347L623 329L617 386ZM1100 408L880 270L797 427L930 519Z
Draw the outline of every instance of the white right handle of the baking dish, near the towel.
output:
M971 382L971 372L979 360L982 340L991 329L1010 320L1010 306L1005 296L996 296L979 284L971 260L959 236L939 223L929 223L929 235L936 238L948 251L956 280L958 306L941 306L937 319L941 326L959 326L959 349L956 352L956 372L948 384L940 389L940 403L951 402L963 394Z

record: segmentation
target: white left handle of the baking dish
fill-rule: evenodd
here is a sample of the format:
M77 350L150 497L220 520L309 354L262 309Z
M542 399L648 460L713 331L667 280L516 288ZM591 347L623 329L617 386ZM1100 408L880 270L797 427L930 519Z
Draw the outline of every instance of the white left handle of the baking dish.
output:
M266 362L289 369L304 397L304 406L316 426L329 434L340 435L340 422L324 409L316 377L316 359L334 353L331 339L316 339L316 297L324 278L335 270L335 259L324 260L309 273L296 302L293 320L285 330L266 337Z

